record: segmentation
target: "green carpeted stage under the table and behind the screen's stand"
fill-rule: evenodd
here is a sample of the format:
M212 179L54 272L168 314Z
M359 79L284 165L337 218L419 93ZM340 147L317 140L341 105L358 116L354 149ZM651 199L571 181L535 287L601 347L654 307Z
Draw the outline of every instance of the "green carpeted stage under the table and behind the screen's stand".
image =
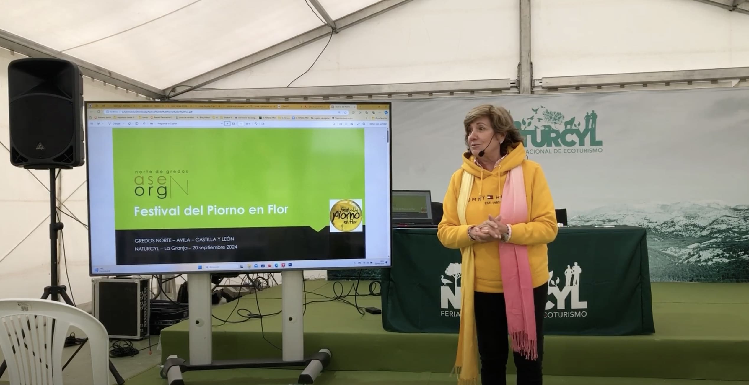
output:
M348 281L307 281L305 348L308 354L320 348L333 353L329 371L319 384L448 384L457 335L388 333L380 315L360 315L354 306L326 297L348 294ZM379 291L377 286L375 291ZM360 294L369 294L369 282L360 282ZM353 293L353 291L351 291ZM654 282L652 336L548 336L545 375L548 384L689 384L661 379L749 381L749 284ZM242 321L237 314L270 314L281 310L281 288L275 287L243 297L239 302L216 306L213 314ZM354 303L354 296L346 297ZM358 296L359 306L380 307L380 297ZM325 302L321 302L325 301ZM259 309L258 309L259 303ZM234 308L237 311L234 311ZM222 321L213 319L213 324ZM162 331L162 357L177 354L188 358L187 321ZM275 345L275 347L273 345ZM227 323L213 328L213 359L280 357L279 315ZM347 372L333 372L347 371ZM354 372L349 373L348 371ZM358 372L358 373L357 373ZM375 373L372 373L375 372ZM395 372L395 373L392 373ZM512 359L508 372L514 372ZM294 382L297 371L244 369L188 372L190 384L252 384ZM277 378L280 376L280 378ZM388 376L392 376L388 377ZM564 376L554 378L554 376ZM567 377L605 377L605 381L582 382ZM336 378L345 378L338 382ZM636 380L634 378L637 378ZM640 378L653 378L651 382ZM565 382L565 381L572 382ZM592 379L589 379L592 381ZM327 382L323 382L327 381ZM398 382L401 381L401 382ZM158 370L145 372L130 384L166 384ZM712 384L702 381L697 384ZM718 382L715 384L727 384Z

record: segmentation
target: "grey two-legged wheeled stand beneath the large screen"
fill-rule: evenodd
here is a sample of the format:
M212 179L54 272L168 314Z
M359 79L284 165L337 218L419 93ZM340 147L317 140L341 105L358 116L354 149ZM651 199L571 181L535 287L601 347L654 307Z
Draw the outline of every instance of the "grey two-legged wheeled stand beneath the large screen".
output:
M210 312L210 274L199 273L187 276L189 293L189 362L172 355L167 357L161 377L167 378L168 385L184 385L182 373L191 370L276 368L282 366L304 366L299 384L313 384L315 378L330 363L330 351L320 349L309 357L304 357L303 326L303 272L284 271L281 273L282 298L282 359L258 360L213 360ZM238 301L240 299L236 299Z

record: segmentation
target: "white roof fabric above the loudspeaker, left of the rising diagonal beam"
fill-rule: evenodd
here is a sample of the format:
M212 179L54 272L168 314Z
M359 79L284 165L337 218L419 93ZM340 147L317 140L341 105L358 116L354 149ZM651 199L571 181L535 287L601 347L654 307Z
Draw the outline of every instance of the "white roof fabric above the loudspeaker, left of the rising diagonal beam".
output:
M330 33L326 19L332 24L372 4L385 3L381 10L403 1L1 2L13 2L2 6L0 13L6 35L163 90L315 28Z

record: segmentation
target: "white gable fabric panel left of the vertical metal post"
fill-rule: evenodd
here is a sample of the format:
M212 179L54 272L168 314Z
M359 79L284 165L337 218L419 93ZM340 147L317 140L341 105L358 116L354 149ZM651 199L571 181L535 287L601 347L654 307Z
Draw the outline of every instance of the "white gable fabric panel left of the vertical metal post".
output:
M360 85L514 78L520 43L518 1L410 1L205 85L207 88ZM500 22L501 20L501 22Z

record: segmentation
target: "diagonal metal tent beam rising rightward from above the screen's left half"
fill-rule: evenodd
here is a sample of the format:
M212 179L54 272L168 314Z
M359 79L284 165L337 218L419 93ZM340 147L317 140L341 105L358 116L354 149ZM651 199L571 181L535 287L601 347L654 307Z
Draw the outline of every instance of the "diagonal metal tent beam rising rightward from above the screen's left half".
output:
M335 22L333 22L333 24L336 25L335 31L342 31L345 28L357 25L360 22L371 19L372 17L385 13L388 10L392 10L395 7L399 7L409 1L411 0L377 1L375 4L372 4L369 7L365 7L361 10L357 10L354 13L337 19ZM317 1L313 1L313 4L315 3L317 3ZM320 7L318 11L322 9L323 8ZM327 12L325 14L327 14ZM330 18L330 16L328 16L328 18ZM245 70L249 67L260 64L270 58L275 58L276 56L282 55L286 52L291 52L292 50L297 49L300 46L305 46L309 43L312 43L315 40L318 40L321 37L325 37L330 33L330 25L321 25L320 27L315 28L312 31L307 31L296 37L292 37L291 39L285 40L282 43L278 43L275 46L270 46L266 49L255 52L252 55L240 58L237 61L232 61L231 63L225 64L214 70L210 70L207 73L203 73L202 75L195 76L191 79L185 80L184 82L179 82L176 85L165 88L163 90L163 93L169 95L169 97L171 98L189 91L193 91L197 88L201 88L202 86L207 85L208 83L215 82L216 80L223 79L226 76L230 76L234 73L240 72L241 70ZM184 86L184 88L181 88L181 86Z

